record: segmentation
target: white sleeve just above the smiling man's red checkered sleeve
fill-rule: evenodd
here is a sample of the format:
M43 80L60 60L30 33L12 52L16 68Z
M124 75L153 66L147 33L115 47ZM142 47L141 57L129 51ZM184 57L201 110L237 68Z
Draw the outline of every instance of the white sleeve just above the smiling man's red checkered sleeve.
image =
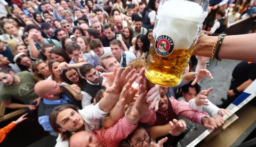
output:
M202 106L197 106L195 100L196 99L191 99L189 102L186 102L184 97L179 97L179 99L178 99L178 101L188 104L190 108L192 108L196 111L199 111L199 112L204 111L204 112L208 113L211 117L219 115L220 108L218 108L216 105L214 105L208 99L205 99L205 100L208 101L209 105L202 105Z

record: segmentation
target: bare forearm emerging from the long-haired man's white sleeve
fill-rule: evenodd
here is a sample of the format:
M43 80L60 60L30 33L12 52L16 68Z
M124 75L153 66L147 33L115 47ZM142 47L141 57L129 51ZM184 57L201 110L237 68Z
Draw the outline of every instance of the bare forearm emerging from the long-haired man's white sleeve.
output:
M111 97L112 99L110 99L109 97ZM115 100L113 100L115 99ZM105 111L105 112L109 112L116 104L116 100L119 99L119 95L114 95L114 94L106 94L106 96L104 96L100 102L99 102L99 108L102 110L102 111Z

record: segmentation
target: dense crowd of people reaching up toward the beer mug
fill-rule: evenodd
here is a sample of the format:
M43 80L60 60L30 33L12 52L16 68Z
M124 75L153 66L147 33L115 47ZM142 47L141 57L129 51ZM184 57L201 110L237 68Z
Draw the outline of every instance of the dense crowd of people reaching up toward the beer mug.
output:
M219 107L207 99L212 88L198 84L213 79L209 57L197 55L196 70L190 64L176 87L147 80L159 1L0 2L1 104L37 113L57 147L173 146L194 123L221 127L225 108L256 78L255 63L238 64ZM210 1L203 32L219 35L241 16L255 17L255 4ZM0 130L0 142L25 116Z

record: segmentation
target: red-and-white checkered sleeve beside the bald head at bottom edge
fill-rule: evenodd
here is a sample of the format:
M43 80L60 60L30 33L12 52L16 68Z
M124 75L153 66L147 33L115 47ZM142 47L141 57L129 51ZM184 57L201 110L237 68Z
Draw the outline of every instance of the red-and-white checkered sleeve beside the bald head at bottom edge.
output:
M136 125L129 124L126 120L126 116L121 118L116 125L111 128L105 129L101 128L100 130L96 130L94 132L90 132L95 134L100 140L101 144L105 147L117 147L129 134L133 132L133 130L137 127Z

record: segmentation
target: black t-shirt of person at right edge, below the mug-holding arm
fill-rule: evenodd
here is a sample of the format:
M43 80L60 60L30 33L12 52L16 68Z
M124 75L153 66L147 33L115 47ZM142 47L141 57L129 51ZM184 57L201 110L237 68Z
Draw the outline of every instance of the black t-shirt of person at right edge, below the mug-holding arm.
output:
M256 63L242 61L233 70L232 77L239 83L256 79Z

